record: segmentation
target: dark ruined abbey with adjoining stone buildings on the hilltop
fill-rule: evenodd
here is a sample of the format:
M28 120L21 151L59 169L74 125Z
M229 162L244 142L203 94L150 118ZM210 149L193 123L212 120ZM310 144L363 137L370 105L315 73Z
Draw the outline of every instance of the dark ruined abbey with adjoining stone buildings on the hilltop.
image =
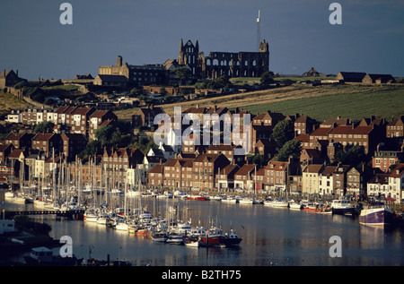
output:
M269 70L268 42L262 40L258 52L199 52L198 40L185 44L180 40L178 59L167 59L162 65L123 64L118 56L116 65L100 66L94 80L96 85L147 85L166 84L178 79L173 71L186 67L194 80L215 80L226 75L233 77L260 77Z

